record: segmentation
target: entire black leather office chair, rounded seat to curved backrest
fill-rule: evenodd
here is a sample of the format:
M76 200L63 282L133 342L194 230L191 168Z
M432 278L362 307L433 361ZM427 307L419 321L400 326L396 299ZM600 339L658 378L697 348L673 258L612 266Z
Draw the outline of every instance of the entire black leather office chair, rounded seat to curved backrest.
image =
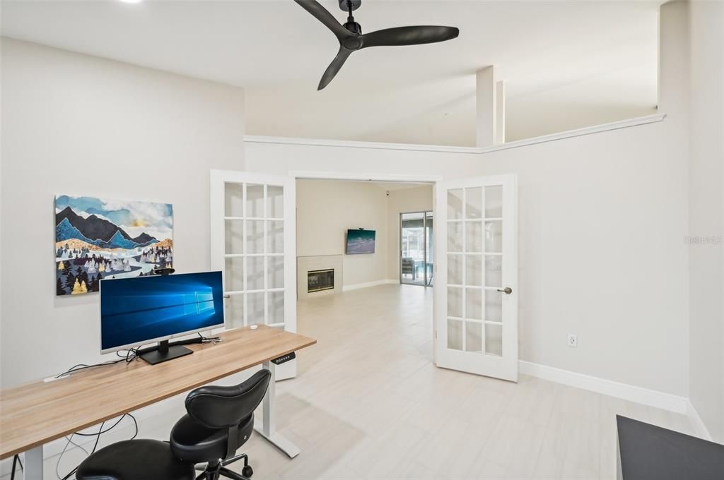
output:
M93 453L78 466L77 480L248 480L247 455L236 450L251 437L254 410L269 387L261 370L232 387L200 387L186 397L188 414L176 422L170 442L125 440ZM242 475L226 468L244 460ZM194 465L206 463L196 476Z

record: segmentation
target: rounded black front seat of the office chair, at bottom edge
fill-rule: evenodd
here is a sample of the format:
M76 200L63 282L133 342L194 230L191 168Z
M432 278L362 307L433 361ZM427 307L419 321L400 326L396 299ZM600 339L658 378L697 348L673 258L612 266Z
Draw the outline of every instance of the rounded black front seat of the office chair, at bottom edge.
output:
M193 480L193 463L174 456L159 440L125 440L101 448L86 458L77 480Z

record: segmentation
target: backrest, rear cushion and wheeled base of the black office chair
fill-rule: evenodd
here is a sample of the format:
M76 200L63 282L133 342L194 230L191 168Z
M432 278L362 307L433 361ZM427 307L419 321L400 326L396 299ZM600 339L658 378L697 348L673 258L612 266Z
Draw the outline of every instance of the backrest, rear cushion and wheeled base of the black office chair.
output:
M197 480L218 480L220 476L248 480L253 470L246 454L236 450L251 437L254 410L269 387L271 372L261 370L233 387L201 387L186 397L187 415L171 430L171 450L187 463L206 463ZM226 466L244 460L242 475Z

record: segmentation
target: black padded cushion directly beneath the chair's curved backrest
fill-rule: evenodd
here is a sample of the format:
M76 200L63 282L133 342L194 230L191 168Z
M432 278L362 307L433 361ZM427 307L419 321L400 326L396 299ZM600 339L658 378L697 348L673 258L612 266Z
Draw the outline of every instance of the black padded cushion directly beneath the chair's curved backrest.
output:
M254 414L243 419L237 429L237 445L243 445L254 429ZM171 429L171 450L178 458L189 463L204 463L227 456L228 429L204 427L188 414L181 417Z

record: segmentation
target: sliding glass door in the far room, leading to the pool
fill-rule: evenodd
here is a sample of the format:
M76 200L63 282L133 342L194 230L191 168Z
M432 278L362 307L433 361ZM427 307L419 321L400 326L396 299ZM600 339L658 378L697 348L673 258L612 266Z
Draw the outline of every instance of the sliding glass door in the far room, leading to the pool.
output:
M400 213L400 283L432 286L432 212Z

